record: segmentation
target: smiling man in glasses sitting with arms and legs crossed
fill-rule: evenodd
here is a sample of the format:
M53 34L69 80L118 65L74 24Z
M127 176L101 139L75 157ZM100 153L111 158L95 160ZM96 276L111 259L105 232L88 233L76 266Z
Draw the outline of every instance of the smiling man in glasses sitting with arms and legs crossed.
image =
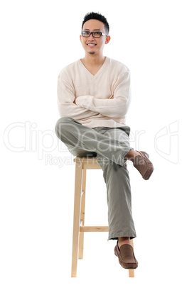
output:
M125 115L130 103L129 69L103 55L110 41L109 24L99 13L87 13L80 42L85 57L63 68L58 76L61 118L55 133L77 157L97 157L107 186L109 240L117 240L114 253L122 267L137 268L129 239L136 238L132 218L127 160L144 179L153 165L146 152L129 146Z

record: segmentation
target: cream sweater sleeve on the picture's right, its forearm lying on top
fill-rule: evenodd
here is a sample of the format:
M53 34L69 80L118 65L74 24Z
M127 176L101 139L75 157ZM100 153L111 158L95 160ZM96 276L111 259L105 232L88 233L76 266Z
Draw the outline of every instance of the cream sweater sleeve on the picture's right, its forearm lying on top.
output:
M90 95L79 96L76 104L111 118L125 116L131 99L129 71L119 74L112 95L114 99L96 99Z

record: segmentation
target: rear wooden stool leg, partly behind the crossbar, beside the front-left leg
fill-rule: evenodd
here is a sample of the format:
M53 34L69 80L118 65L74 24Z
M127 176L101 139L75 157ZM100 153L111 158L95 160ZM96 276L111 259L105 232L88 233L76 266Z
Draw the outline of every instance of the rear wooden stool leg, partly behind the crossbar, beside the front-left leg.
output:
M81 202L81 214L80 214L80 220L82 220L82 225L85 225L85 190L86 190L86 170L82 169L82 202ZM78 252L78 258L83 258L83 244L84 244L84 232L80 233L79 237L79 252Z

